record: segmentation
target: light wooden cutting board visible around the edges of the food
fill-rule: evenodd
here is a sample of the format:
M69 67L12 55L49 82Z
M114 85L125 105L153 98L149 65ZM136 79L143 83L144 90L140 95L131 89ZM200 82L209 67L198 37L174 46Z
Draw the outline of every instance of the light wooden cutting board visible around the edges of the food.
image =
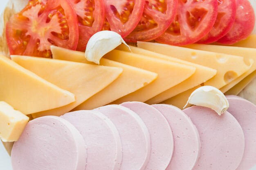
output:
M0 17L0 54L9 57L9 50L6 42L5 25L10 17L21 11L28 3L28 0L9 0ZM238 95L256 104L256 78ZM3 142L7 152L11 153L13 142Z

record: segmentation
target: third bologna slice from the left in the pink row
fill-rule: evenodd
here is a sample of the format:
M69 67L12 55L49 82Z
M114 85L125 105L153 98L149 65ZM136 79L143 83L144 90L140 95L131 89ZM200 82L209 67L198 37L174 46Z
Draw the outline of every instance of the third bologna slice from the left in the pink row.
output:
M94 109L117 127L123 148L120 170L144 170L150 158L150 135L143 120L130 109L107 105Z

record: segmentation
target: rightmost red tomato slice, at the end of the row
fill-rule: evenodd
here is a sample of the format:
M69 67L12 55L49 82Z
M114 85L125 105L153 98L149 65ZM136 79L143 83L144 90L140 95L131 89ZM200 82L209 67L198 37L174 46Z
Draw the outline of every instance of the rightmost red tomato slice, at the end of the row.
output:
M227 35L218 40L221 44L235 44L246 39L253 31L255 15L248 0L236 0L236 20Z

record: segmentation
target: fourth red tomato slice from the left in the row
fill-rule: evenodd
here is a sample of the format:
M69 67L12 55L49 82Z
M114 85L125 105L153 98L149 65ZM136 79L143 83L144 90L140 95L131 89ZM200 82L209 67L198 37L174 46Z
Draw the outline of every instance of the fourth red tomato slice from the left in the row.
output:
M143 15L135 30L125 41L150 41L166 31L177 12L178 0L148 0Z

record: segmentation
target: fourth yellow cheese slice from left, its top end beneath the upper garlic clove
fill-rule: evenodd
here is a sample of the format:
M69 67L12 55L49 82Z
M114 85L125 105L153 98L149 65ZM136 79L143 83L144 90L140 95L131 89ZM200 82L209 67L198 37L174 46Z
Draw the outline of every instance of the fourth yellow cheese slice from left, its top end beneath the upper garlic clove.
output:
M112 102L112 104L120 104L127 101L145 102L181 83L195 73L195 67L189 65L120 50L112 50L104 57L158 74L158 77L154 82L136 92L119 98L115 102Z

